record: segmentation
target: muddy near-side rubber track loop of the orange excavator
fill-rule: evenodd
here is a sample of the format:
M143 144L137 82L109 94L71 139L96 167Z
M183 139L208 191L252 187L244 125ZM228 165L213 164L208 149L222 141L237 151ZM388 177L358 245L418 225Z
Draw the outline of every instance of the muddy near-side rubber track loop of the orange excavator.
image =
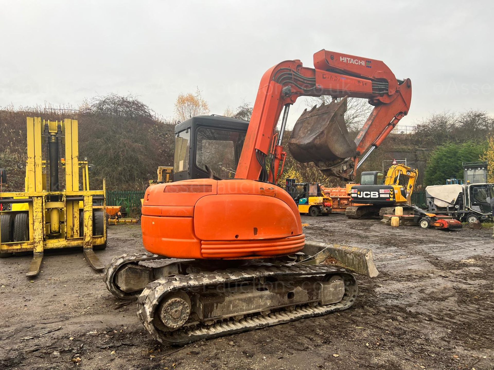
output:
M301 306L291 311L276 311L262 316L253 314L242 320L223 321L211 326L204 324L194 329L183 329L175 332L163 332L154 325L154 313L161 299L168 293L180 289L200 288L204 286L250 281L261 277L287 277L322 274L338 274L345 282L345 294L341 301L315 307ZM328 266L273 266L251 265L248 269L217 270L208 273L193 273L161 278L148 284L137 300L137 317L153 338L173 345L184 345L201 339L210 339L222 335L241 333L266 326L287 323L302 318L324 315L344 310L355 301L358 288L355 277L344 269Z

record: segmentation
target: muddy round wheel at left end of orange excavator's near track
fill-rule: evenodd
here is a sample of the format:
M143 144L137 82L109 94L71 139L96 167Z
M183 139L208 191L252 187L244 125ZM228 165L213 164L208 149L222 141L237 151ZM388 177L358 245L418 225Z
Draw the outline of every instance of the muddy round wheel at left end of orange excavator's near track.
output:
M185 292L175 292L165 296L158 307L158 316L167 332L180 329L189 320L190 298Z

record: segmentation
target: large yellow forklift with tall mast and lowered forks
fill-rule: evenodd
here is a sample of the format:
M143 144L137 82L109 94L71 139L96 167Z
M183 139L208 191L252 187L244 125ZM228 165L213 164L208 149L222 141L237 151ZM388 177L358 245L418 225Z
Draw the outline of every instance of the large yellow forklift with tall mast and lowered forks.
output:
M105 182L89 190L78 121L27 117L27 154L25 191L0 192L9 206L0 211L0 257L32 253L27 276L36 276L45 249L83 247L91 267L102 270L94 250L106 248Z

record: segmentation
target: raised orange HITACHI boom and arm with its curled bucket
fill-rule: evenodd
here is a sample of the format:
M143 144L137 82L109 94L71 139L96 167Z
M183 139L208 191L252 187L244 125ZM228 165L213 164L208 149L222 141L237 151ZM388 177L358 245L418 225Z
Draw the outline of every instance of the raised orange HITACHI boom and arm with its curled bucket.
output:
M235 178L276 182L284 153L281 141L288 113L284 114L279 135L275 134L275 128L283 107L295 103L300 96L366 98L375 107L355 143L349 142L346 128L341 124L337 131L343 137L327 135L329 127L314 126L313 119L308 120L308 129L297 130L302 134L302 142L293 145L299 153L297 158L292 150L295 159L314 161L323 172L346 179L352 178L359 155L371 146L377 147L408 113L411 81L398 81L383 62L323 49L314 54L314 66L303 67L299 60L284 61L262 76ZM342 152L351 155L341 157L333 152L332 147L342 140L349 142ZM306 155L307 151L311 153ZM270 173L266 169L267 156L271 157Z

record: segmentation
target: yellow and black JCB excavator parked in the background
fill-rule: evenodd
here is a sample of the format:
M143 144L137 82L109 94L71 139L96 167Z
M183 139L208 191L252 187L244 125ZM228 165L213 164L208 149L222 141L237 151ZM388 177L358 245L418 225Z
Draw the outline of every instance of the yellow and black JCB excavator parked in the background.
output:
M394 215L395 206L403 207L403 212L413 213L407 207L418 177L418 170L403 163L392 165L386 176L380 171L362 172L360 185L352 186L352 205L345 210L350 219L367 219L384 215Z

